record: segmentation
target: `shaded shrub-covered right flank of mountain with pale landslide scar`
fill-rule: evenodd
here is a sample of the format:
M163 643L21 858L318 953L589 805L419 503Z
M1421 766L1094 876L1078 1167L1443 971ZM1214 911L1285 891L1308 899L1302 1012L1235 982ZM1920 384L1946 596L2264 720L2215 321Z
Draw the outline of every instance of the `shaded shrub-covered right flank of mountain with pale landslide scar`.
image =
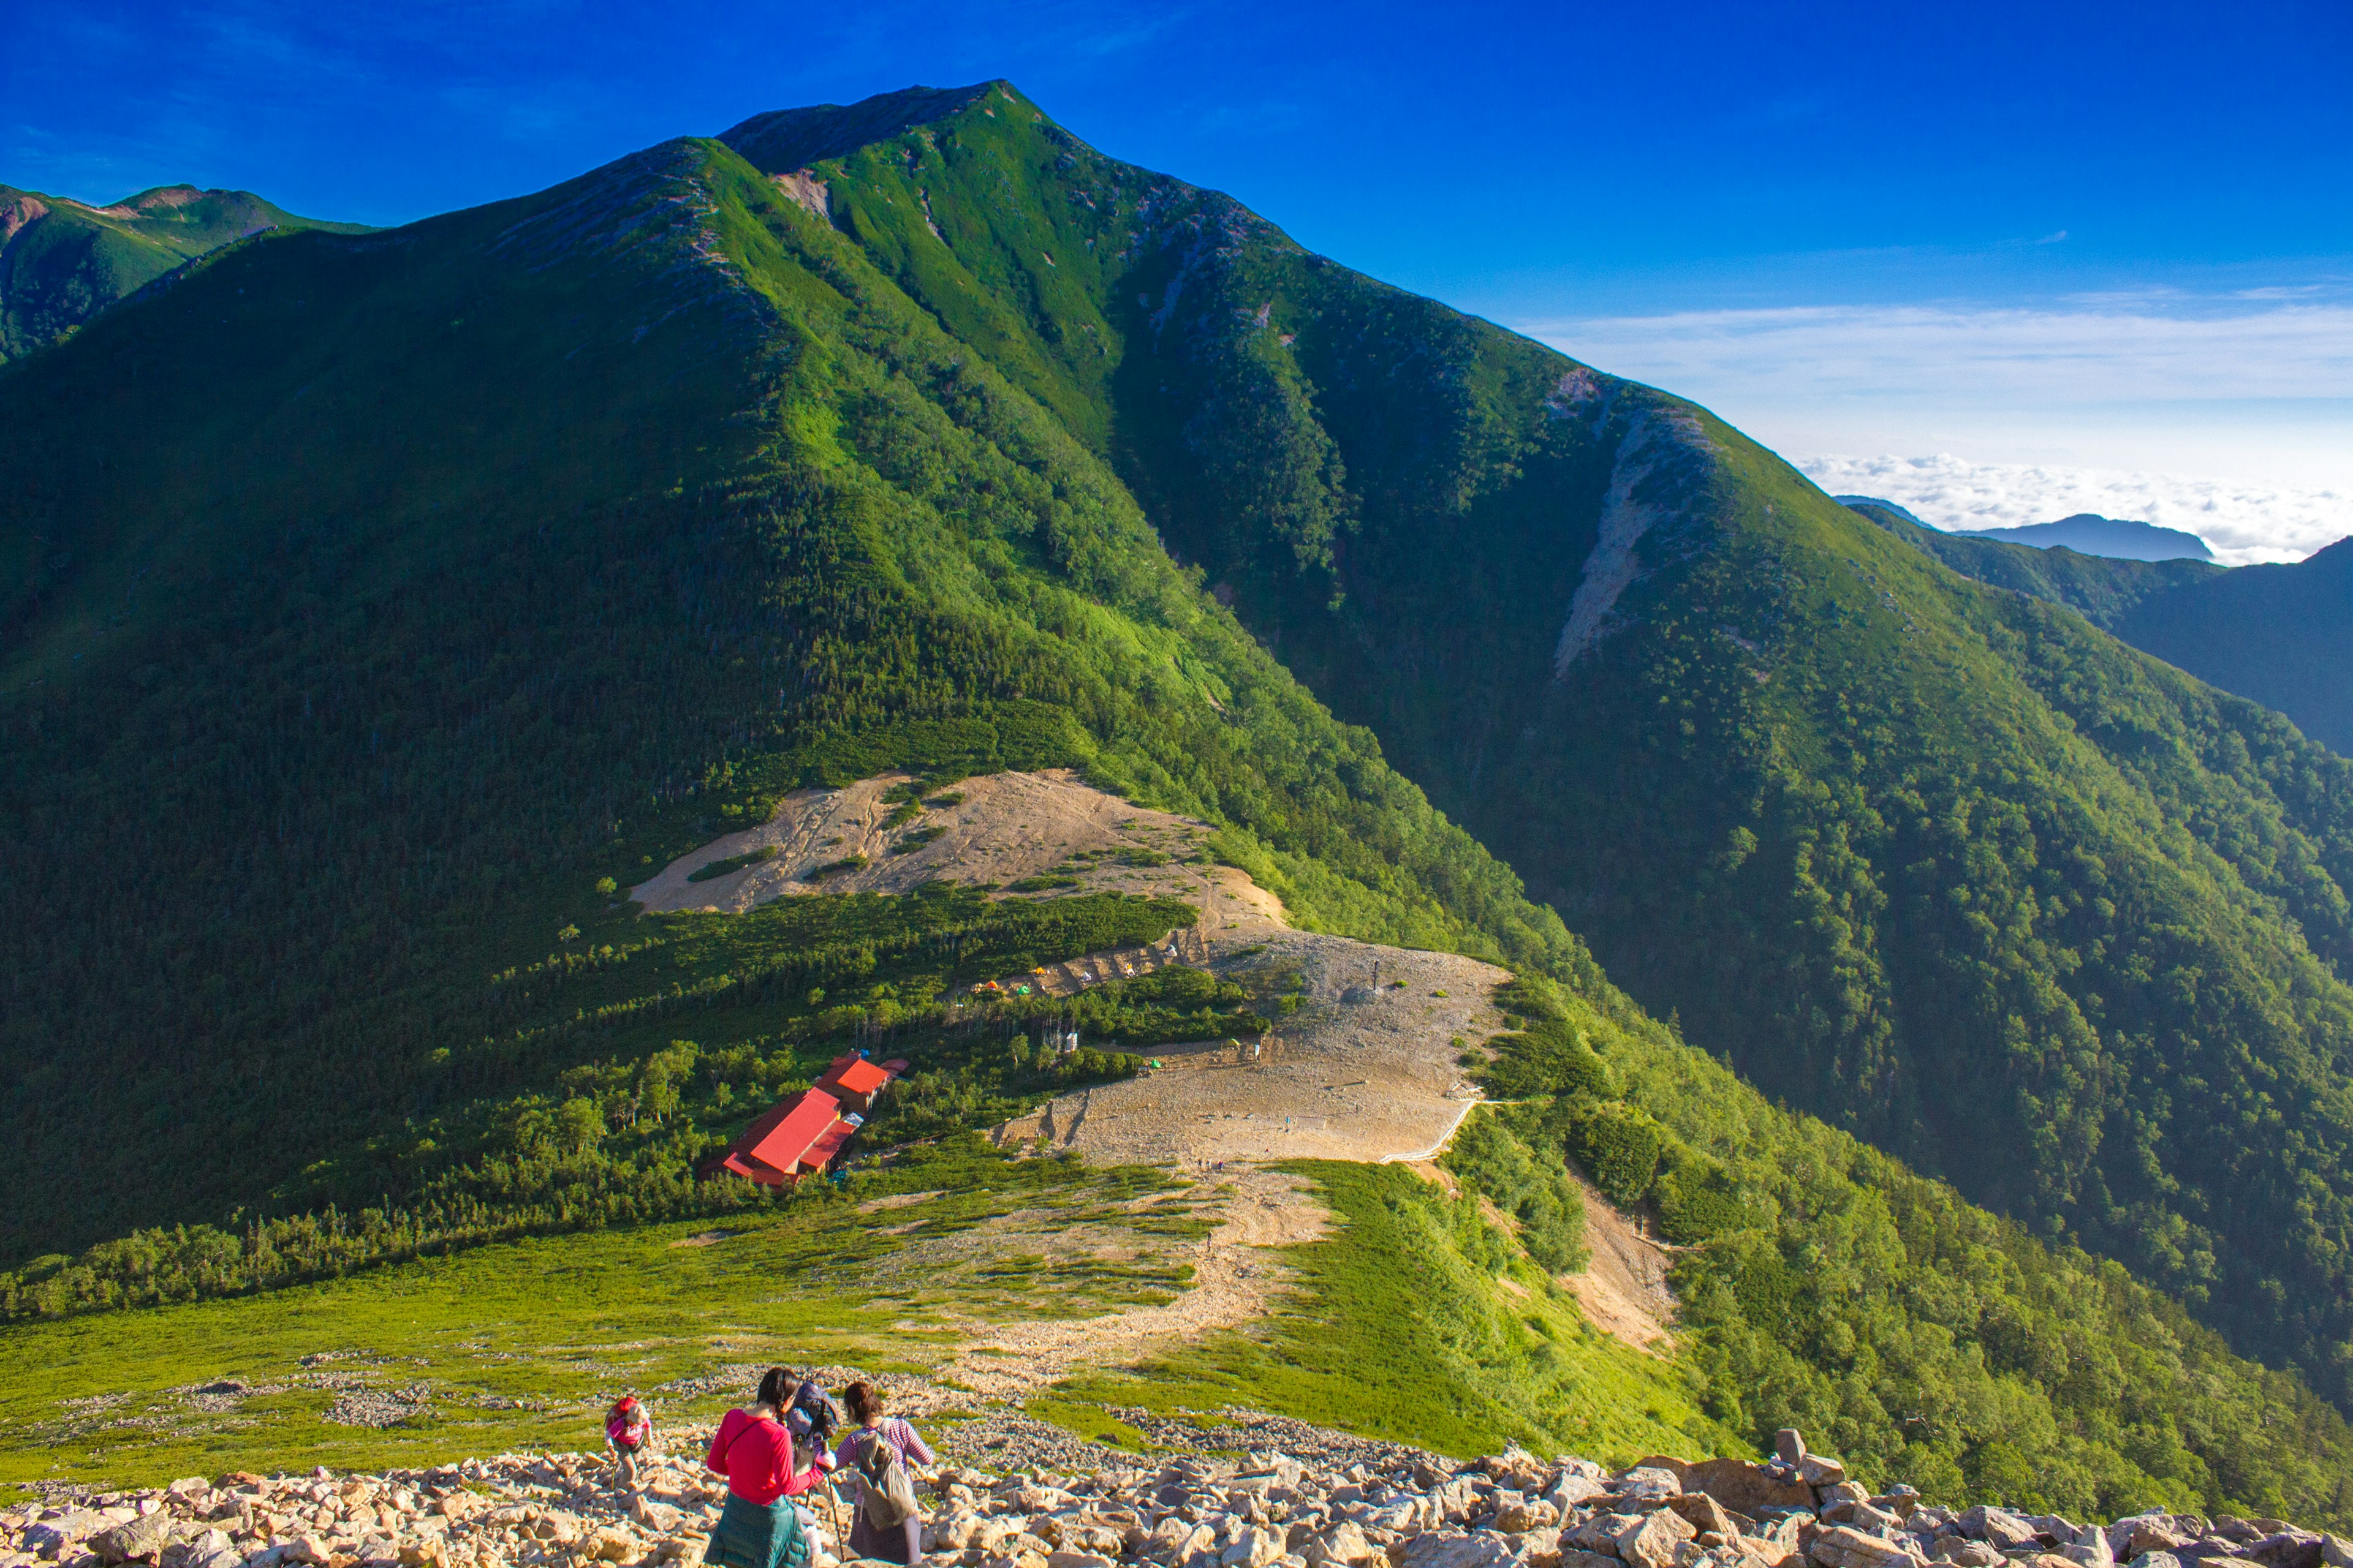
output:
M828 125L727 139L1111 454L1612 976L2353 1396L2353 766L1012 92Z

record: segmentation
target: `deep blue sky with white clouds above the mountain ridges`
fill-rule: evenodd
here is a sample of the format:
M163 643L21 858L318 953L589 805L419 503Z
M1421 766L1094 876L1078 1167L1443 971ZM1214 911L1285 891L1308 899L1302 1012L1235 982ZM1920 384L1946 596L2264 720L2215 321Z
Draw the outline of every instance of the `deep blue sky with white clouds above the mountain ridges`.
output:
M9 12L14 186L395 223L1002 75L1106 153L1932 520L2033 520L2073 475L2177 527L2202 505L2247 559L2353 531L2344 0Z

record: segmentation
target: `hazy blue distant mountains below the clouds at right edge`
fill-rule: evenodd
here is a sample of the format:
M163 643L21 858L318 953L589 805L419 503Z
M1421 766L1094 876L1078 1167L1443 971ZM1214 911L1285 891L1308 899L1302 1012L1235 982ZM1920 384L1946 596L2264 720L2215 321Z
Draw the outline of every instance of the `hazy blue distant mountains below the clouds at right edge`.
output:
M2075 543L2005 543L2071 524L2144 531L2108 534L2127 543L2146 543L2148 536L2191 538L2146 522L2085 512L2031 529L1944 534L1894 501L1838 498L1953 571L2066 604L2169 665L2278 708L2313 741L2353 757L2353 538L2292 567L2233 571L2202 559L2113 559L2118 550ZM2202 541L2193 543L2205 548Z

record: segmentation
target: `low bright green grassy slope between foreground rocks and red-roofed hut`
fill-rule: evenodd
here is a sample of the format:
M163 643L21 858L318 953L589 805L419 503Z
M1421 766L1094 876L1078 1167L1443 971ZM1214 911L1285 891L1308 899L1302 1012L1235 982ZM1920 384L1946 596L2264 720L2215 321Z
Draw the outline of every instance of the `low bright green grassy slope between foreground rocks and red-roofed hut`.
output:
M1038 1410L1118 1439L1106 1401L1198 1410L1212 1425L1221 1406L1240 1403L1459 1455L1544 1439L1614 1462L1727 1441L1675 1366L1584 1328L1565 1295L1515 1262L1475 1213L1405 1171L1313 1175L1348 1225L1294 1248L1304 1291L1292 1309L1132 1378L1080 1380ZM920 1197L941 1187L944 1197ZM219 1469L593 1448L621 1387L652 1394L664 1422L682 1422L713 1420L744 1399L744 1389L656 1392L713 1368L925 1371L969 1331L951 1324L1165 1300L1181 1286L1179 1258L1209 1225L1214 1194L1179 1194L1151 1218L1113 1206L1167 1187L1158 1171L1096 1173L955 1150L861 1173L840 1194L812 1194L776 1215L739 1218L715 1246L682 1246L701 1234L694 1225L609 1229L261 1300L14 1328L0 1338L0 1371L14 1373L0 1406L9 1434L0 1479L160 1483ZM894 1208L894 1232L880 1234L856 1204L889 1194L918 1201ZM1073 1227L1092 1227L1101 1248L1073 1255ZM1417 1279L1447 1281L1442 1312L1421 1309L1428 1295L1405 1284L1400 1255L1435 1269ZM1515 1284L1492 1284L1497 1269ZM875 1331L880 1321L889 1333ZM1438 1368L1447 1399L1407 1375ZM318 1382L322 1371L414 1389L424 1410L381 1429L327 1422L336 1392ZM188 1389L216 1380L282 1387L231 1413L188 1403Z

